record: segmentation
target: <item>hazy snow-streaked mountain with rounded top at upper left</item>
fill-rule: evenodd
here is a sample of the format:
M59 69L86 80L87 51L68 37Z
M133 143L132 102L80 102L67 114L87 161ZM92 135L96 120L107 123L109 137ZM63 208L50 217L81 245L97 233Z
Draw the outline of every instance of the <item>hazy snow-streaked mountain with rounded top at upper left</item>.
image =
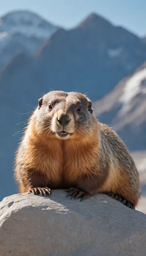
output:
M30 55L58 27L30 11L13 11L0 18L0 68L18 53Z

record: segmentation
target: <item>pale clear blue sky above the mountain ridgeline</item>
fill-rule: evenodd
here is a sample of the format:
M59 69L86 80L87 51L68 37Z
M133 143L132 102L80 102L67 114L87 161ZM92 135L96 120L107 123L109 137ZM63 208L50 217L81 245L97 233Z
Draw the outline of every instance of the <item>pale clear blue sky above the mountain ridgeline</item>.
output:
M146 0L0 0L0 16L18 9L32 10L65 28L96 12L116 25L146 35Z

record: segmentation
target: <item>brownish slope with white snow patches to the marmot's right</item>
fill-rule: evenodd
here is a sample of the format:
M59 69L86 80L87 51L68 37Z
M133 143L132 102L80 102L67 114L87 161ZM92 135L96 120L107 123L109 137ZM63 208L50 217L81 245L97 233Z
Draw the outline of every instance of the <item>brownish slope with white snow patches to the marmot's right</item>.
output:
M94 103L95 113L123 138L130 150L146 149L146 62Z

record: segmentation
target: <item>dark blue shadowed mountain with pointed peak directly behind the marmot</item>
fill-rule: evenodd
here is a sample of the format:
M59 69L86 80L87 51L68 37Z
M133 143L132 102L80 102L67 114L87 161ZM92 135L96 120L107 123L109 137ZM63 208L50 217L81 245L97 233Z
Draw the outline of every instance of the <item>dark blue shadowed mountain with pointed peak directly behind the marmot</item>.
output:
M43 93L50 89L78 91L96 101L110 93L123 77L131 75L145 60L146 44L140 38L91 14L74 29L55 31L34 56L23 51L2 68L0 163L3 184L0 199L16 192L11 170L14 151L22 136L22 131L18 131L24 128L23 121L31 114L24 113L34 110ZM121 90L117 89L116 98ZM110 114L107 109L103 120L110 124L120 107L113 105ZM125 128L126 139L130 133L128 129ZM145 128L141 126L141 129ZM122 133L123 128L118 131Z

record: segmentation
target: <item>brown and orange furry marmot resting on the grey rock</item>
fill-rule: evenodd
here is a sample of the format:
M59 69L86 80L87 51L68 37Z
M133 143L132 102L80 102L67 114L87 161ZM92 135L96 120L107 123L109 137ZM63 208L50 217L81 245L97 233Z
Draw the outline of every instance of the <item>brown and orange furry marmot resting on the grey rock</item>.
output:
M51 91L39 99L16 153L20 192L71 198L106 193L135 209L139 175L124 142L98 122L83 94Z

